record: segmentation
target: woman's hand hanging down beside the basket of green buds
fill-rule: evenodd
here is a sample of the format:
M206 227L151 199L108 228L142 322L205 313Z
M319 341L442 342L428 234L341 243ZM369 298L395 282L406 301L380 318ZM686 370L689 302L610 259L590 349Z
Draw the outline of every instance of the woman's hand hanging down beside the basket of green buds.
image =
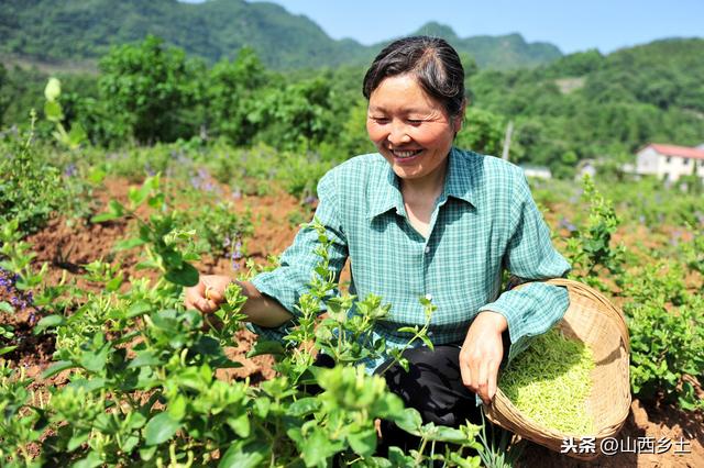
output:
M464 387L490 404L496 394L498 367L504 357L502 333L508 327L504 315L480 312L464 338L460 350L460 371Z

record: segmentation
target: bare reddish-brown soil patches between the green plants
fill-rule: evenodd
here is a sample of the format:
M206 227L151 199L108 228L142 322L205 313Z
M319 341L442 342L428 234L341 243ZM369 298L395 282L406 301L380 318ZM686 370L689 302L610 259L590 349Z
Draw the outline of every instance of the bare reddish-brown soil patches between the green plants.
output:
M127 200L129 183L125 180L110 180L107 190L99 192L103 203L111 199ZM265 261L268 255L277 255L290 244L297 226L288 220L308 221L312 213L310 205L304 205L295 198L276 191L266 197L243 197L238 201L237 210L251 209L253 215L254 234L245 239L245 252L257 263ZM297 213L293 216L292 213ZM57 282L66 274L72 279L78 279L85 272L84 266L96 259L112 260L119 258L127 275L138 275L134 265L138 258L133 254L117 257L112 253L116 241L128 234L130 225L125 222L108 222L94 225L67 226L65 220L52 220L40 233L30 236L28 242L33 245L37 254L35 264L48 263L48 281ZM131 256L132 255L132 256ZM227 258L205 259L199 266L202 274L231 275L232 267ZM139 272L144 275L143 272ZM125 275L125 276L127 276ZM345 274L349 278L349 274ZM78 283L87 289L94 286L82 279ZM10 300L10 293L0 288L0 301ZM13 366L25 368L28 377L35 377L51 364L54 350L53 337L47 335L34 336L32 326L36 323L41 312L33 308L25 308L14 316L0 314L0 323L14 327L19 347L3 356ZM268 379L274 375L272 359L268 357L245 358L255 335L248 331L238 333L240 347L228 349L228 355L243 367L228 369L219 374L224 379L243 379L249 377L253 382ZM13 342L13 343L16 343ZM0 348L8 345L8 341L0 338ZM0 359L2 359L0 357ZM62 385L66 381L65 372L55 376L51 382L37 382L35 389L44 385ZM602 455L591 463L578 461L527 443L519 465L524 467L704 467L704 416L702 412L684 413L672 406L645 405L635 400L631 412L618 435L622 441L636 443L639 438L652 437L653 441L664 437L672 441L672 447L663 454L617 453ZM678 445L684 439L685 445ZM684 450L682 450L684 449ZM689 452L689 453L678 453Z

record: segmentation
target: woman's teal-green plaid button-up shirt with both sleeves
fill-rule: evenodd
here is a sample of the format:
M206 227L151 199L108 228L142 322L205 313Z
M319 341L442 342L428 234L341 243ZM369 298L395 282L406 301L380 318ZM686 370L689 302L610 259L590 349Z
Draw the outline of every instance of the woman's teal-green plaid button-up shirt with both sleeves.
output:
M419 297L438 307L430 339L461 343L480 311L494 311L508 322L508 359L527 338L559 321L568 308L566 290L541 282L502 293L504 269L525 280L561 277L570 269L556 252L550 233L532 200L522 170L492 156L452 148L444 189L422 237L408 222L398 178L380 155L346 160L318 185L316 216L333 241L330 266L338 274L351 261L350 292L381 296L393 304L375 333L387 346L403 346L402 326L425 323ZM318 261L311 229L301 230L280 257L280 267L253 279L264 294L294 315ZM280 338L284 326L256 333ZM367 363L373 370L383 358Z

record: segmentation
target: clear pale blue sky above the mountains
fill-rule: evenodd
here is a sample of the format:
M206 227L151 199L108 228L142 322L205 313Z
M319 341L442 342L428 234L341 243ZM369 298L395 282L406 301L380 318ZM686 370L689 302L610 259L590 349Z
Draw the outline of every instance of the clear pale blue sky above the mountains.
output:
M204 0L182 0L200 3ZM271 1L271 0L270 0ZM704 37L704 0L273 0L332 38L364 45L407 35L429 21L460 37L520 33L564 54L604 54L666 37Z

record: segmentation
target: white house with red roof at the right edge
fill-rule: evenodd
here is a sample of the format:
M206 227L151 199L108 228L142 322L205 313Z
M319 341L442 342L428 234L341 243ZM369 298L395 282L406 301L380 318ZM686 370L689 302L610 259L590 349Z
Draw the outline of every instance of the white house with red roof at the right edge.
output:
M636 154L635 171L670 182L694 174L704 179L704 149L652 143Z

